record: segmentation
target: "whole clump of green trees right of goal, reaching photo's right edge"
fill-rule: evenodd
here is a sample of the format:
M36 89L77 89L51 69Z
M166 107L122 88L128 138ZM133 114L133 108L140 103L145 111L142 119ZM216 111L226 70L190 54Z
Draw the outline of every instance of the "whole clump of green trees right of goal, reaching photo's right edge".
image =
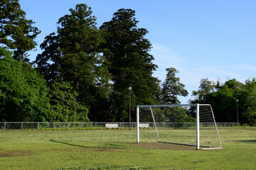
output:
M210 103L213 106L216 122L237 122L239 118L239 122L242 124L255 125L255 78L248 79L245 84L235 79L228 80L223 85L217 83L215 91L213 91L214 82L202 80L199 91L194 93L199 94L199 97L191 103ZM239 101L238 118L237 100Z

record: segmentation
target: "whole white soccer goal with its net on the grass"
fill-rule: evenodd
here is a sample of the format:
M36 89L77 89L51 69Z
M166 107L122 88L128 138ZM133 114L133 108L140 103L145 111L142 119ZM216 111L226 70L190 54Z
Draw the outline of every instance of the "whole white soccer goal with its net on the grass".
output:
M137 143L166 142L220 149L220 136L209 104L137 106Z

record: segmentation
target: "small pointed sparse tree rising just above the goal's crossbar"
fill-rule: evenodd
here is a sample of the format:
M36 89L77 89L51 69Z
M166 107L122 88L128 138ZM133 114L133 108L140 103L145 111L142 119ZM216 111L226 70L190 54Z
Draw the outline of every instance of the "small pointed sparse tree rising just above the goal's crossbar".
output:
M166 72L166 79L162 85L159 103L178 104L180 101L178 101L177 96L188 96L188 91L184 89L185 85L179 82L179 77L176 77L178 70L168 68Z

